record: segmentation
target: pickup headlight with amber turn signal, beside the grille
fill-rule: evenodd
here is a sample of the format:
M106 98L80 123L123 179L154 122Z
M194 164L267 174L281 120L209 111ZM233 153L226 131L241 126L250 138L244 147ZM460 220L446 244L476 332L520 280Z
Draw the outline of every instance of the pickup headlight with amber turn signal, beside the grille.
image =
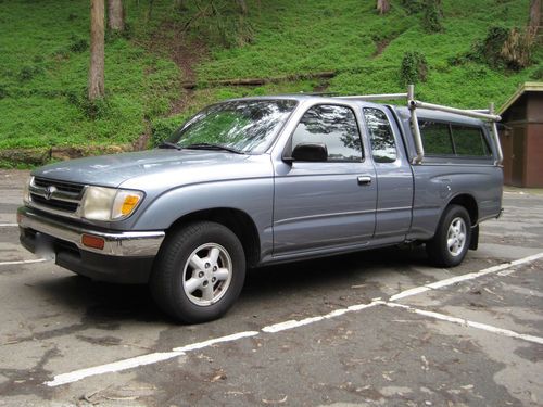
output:
M132 214L143 192L105 187L87 187L81 216L91 220L121 220Z

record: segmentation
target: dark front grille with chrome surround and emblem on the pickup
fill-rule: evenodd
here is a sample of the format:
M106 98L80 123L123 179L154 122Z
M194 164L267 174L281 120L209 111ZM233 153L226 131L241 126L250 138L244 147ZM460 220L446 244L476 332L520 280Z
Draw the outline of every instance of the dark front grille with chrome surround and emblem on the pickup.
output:
M42 211L74 216L83 199L85 186L35 177L30 185L31 202Z

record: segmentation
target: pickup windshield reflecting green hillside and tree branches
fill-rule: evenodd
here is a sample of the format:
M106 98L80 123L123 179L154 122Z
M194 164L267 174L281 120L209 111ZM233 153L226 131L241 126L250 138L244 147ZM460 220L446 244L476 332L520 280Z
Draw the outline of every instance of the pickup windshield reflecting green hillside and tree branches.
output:
M214 104L176 130L168 142L182 149L220 147L262 153L294 110L294 100L241 100Z

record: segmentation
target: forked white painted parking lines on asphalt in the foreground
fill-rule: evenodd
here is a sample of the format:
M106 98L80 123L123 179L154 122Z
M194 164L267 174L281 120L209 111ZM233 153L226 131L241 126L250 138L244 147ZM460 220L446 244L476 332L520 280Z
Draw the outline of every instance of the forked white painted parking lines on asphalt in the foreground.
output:
M403 291L396 295L391 296L389 301L404 298L406 296L415 295L415 294L418 294L420 292L425 292L425 291L428 291L431 289L442 288L442 287L454 284L456 282L460 282L460 281L465 281L465 280L469 280L469 279L475 279L475 278L485 276L485 275L491 274L491 272L506 270L508 268L512 268L512 267L515 267L515 266L518 266L518 265L521 265L525 263L534 262L534 260L542 258L542 257L543 257L543 252L535 254L533 256L520 258L520 259L515 260L515 262L504 263L504 264L498 265L498 266L485 268L485 269L480 270L478 272L469 272L467 275L437 281L432 284L427 284L427 285L422 285L419 288ZM45 260L45 259L40 259L40 260ZM37 262L37 260L33 260L33 262ZM442 315L442 314L438 314L438 313L415 309L415 308L412 308L407 305L402 305L402 304L396 304L396 303L388 303L388 302L381 301L381 298L374 298L368 304L356 304L356 305L349 306L346 308L336 309L329 314L325 314L321 316L310 317L310 318L305 318L305 319L301 319L301 320L288 320L288 321L283 321L283 322L279 322L279 323L274 323L272 326L267 326L267 327L262 328L261 331L238 332L238 333L233 333L233 334L230 334L227 336L220 336L220 338L211 339L211 340L203 341L203 342L198 342L198 343L176 347L176 348L172 349L172 352L153 353L153 354L137 356L137 357L129 358L129 359L114 361L112 364L100 365L100 366L96 366L96 367L91 367L91 368L87 368L87 369L75 370L75 371L72 371L68 373L58 374L53 378L52 381L47 381L43 384L46 384L50 387L53 387L53 386L58 386L61 384L76 382L76 381L79 381L81 379L88 378L90 376L117 372L117 371L122 371L122 370L126 370L126 369L136 368L138 366L151 365L151 364L155 364L155 363L159 363L162 360L167 360L167 359L171 359L171 358L174 358L177 356L182 356L187 352L194 351L194 349L201 349L201 348L212 346L212 345L217 344L217 343L237 341L237 340L240 340L243 338L255 336L255 335L258 335L261 332L273 334L273 333L281 332L281 331L285 331L288 329L293 329L293 328L306 326L310 323L323 321L326 319L336 318L336 317L342 316L342 315L350 313L350 311L358 311L358 310L371 308L371 307L375 307L376 305L387 305L390 307L407 308L414 313L417 313L420 315L426 315L426 316L429 316L432 318L449 320L451 322L455 322L455 323L459 323L459 325L464 325L464 326L470 326L472 328L484 329L487 331L500 333L500 334L510 336L510 338L523 339L526 341L535 342L535 343L543 343L543 339L538 338L538 336L525 335L525 334L516 333L516 332L513 332L509 330L504 330L501 328L487 326L484 323L472 322L472 321L468 321L468 320L462 319L462 318L449 317L446 315Z

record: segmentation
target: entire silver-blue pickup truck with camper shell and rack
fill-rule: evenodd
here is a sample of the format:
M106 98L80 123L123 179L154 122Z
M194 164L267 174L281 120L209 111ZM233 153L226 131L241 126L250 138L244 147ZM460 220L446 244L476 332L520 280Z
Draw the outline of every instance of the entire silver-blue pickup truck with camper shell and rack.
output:
M502 211L498 119L413 87L220 102L157 149L35 169L21 242L78 275L149 283L185 322L224 315L248 267L409 242L453 267Z

